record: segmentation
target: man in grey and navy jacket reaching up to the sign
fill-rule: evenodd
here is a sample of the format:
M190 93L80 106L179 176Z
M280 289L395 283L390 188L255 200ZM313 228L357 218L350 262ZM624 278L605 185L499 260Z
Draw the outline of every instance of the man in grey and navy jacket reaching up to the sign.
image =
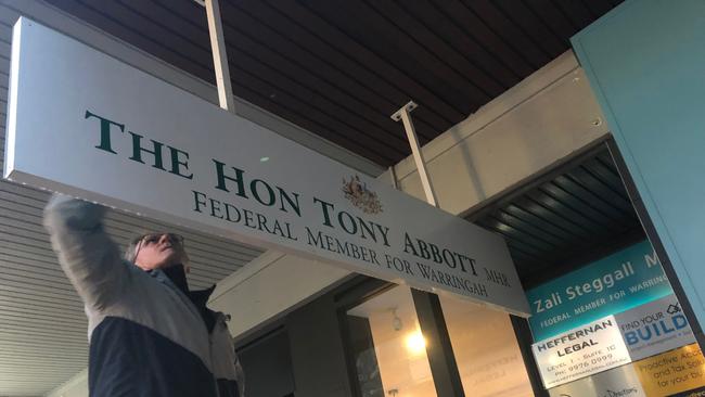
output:
M91 396L241 397L242 369L214 287L190 291L183 239L132 241L123 260L103 230L105 208L54 195L44 226L88 316Z

